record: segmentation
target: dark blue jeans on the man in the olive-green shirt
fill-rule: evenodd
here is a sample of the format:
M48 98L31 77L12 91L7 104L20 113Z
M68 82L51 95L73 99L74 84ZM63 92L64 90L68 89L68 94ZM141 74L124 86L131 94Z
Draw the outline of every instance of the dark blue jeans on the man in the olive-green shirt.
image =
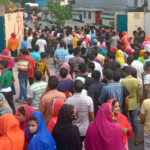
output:
M137 110L129 111L130 122L134 133L138 133Z

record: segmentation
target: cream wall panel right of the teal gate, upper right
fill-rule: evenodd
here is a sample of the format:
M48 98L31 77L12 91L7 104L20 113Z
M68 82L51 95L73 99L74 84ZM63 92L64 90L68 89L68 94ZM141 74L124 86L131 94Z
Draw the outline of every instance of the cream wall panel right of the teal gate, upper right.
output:
M144 12L130 12L128 13L128 34L132 36L132 32L138 27L144 29Z

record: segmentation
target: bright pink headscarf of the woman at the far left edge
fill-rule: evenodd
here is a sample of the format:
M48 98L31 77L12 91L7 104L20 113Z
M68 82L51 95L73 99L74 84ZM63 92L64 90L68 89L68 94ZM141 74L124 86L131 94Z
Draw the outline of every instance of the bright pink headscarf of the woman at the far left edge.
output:
M9 51L7 49L4 49L2 51L1 55L3 55L3 56L9 56ZM0 56L0 61L2 61L2 60L6 60L6 61L9 62L7 69L11 69L11 68L13 68L15 66L15 62L11 58L4 58L4 57Z

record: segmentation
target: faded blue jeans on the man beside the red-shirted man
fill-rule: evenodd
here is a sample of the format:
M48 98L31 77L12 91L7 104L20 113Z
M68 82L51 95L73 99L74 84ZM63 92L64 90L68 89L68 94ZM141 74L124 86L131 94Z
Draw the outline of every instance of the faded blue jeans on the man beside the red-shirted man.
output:
M22 97L24 98L25 101L28 100L27 97L27 81L28 81L28 75L27 73L20 73L18 74L18 78L19 78L19 85L20 85L20 94L19 94L19 99L22 99Z

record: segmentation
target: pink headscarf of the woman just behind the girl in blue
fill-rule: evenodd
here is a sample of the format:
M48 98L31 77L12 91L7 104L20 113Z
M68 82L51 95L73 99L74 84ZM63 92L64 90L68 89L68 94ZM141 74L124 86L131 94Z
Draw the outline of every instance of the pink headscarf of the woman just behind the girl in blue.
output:
M24 107L24 109L25 109L25 118L26 118L26 120L25 120L24 123L22 123L22 124L20 123L20 128L21 128L22 130L25 130L26 123L27 123L29 117L32 115L32 113L35 112L35 110L34 110L31 106L29 106L29 105L21 105L21 106L19 106L18 109L16 110L16 113L15 113L15 117L16 117L16 118L17 118L17 116L18 116L18 110L19 110L21 107Z

